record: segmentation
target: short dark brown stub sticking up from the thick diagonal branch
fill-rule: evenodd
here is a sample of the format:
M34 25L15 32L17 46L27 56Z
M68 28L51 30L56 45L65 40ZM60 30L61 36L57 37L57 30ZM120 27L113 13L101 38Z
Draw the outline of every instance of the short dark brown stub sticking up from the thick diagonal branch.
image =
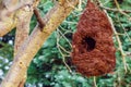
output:
M39 23L40 30L43 32L43 28L45 26L45 22L40 16L40 13L37 8L34 8L34 14L36 16L37 22Z

